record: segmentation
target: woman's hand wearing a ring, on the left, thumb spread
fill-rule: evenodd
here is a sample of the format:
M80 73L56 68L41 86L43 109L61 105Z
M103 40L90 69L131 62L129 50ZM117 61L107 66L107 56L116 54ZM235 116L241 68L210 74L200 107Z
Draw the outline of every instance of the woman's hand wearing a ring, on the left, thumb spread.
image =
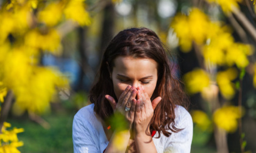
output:
M132 127L134 114L135 114L135 107L137 100L135 99L137 95L137 89L132 86L127 86L124 92L120 95L118 103L116 103L115 98L111 97L110 95L105 95L108 102L112 106L112 109L115 112L120 112L123 114L126 119L129 121L129 130ZM126 111L126 107L129 107L130 110Z

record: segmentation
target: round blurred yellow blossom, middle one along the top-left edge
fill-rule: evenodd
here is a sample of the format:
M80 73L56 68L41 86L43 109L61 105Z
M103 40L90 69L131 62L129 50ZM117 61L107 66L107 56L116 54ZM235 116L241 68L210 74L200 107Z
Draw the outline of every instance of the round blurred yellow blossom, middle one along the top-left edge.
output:
M38 13L38 20L46 25L54 26L62 19L62 4L52 2L44 10Z

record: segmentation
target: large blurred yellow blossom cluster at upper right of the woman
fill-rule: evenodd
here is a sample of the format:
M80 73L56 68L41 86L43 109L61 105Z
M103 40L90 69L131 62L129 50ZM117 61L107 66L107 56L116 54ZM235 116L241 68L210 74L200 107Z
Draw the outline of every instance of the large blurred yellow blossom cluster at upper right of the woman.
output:
M236 64L240 68L249 64L247 56L253 53L251 46L236 43L229 28L210 21L199 9L192 9L188 16L175 16L171 27L179 38L183 52L189 52L195 42L202 50L206 63L219 66Z

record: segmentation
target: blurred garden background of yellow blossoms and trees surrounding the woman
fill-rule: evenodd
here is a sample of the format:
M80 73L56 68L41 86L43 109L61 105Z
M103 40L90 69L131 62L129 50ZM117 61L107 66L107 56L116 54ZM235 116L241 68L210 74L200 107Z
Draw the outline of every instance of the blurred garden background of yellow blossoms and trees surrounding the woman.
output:
M191 152L256 152L256 4L250 0L0 0L0 152L73 152L102 53L148 27L190 96Z

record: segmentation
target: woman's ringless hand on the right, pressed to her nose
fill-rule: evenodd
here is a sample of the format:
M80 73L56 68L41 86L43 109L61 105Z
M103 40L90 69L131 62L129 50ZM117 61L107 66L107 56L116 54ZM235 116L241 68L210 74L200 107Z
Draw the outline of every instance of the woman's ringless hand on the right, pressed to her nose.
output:
M135 110L135 117L133 120L133 130L135 137L140 135L150 134L149 123L154 115L154 106L161 101L161 97L155 98L152 103L146 92L139 87L137 92L137 104Z

